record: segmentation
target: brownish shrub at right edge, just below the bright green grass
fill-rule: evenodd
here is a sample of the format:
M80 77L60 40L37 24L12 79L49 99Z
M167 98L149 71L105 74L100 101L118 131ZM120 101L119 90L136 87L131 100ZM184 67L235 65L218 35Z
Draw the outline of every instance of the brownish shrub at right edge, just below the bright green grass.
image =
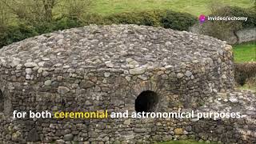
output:
M256 78L256 62L235 63L234 78L241 86L243 86L246 81Z

